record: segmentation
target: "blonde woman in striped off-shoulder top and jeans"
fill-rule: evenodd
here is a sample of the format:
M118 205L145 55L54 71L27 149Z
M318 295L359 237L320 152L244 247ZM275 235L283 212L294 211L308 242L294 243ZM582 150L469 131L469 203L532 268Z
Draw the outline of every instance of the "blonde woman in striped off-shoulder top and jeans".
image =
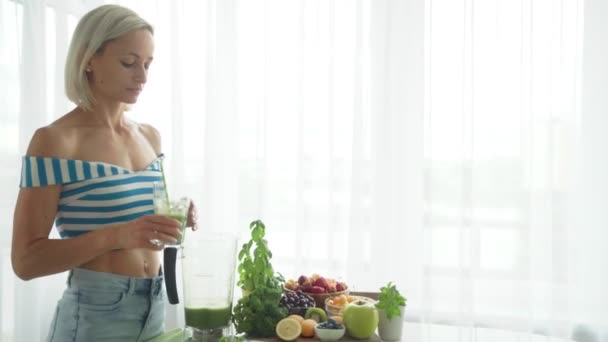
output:
M159 251L179 222L154 215L161 139L125 115L146 84L154 30L98 7L78 23L65 67L76 107L38 129L23 158L12 264L29 280L69 271L49 341L143 341L164 329ZM190 207L188 225L195 226ZM50 239L53 223L61 239Z

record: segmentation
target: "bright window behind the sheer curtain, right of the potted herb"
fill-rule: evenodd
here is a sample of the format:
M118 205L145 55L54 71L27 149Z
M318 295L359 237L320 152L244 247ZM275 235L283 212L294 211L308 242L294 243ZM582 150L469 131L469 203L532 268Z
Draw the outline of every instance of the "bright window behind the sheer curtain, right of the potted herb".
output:
M426 4L430 310L563 333L582 1Z

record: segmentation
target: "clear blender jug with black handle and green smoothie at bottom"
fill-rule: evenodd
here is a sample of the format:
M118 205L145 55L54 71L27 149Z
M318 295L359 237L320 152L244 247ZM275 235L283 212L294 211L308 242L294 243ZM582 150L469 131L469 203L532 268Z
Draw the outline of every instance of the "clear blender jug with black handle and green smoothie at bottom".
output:
M175 277L181 256L184 341L219 341L232 335L231 313L236 270L236 237L200 232L182 245L165 248L165 284L169 303L179 302Z

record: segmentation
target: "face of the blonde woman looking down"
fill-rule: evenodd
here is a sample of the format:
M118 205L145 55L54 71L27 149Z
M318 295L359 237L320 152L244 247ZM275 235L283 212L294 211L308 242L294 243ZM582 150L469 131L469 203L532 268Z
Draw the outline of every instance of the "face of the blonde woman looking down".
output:
M137 30L112 40L89 62L89 82L98 102L135 103L148 78L154 40Z

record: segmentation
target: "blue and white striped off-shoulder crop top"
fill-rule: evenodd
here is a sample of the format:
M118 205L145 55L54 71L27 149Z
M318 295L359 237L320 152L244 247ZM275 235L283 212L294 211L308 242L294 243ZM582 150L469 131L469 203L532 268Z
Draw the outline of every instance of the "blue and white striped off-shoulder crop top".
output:
M62 238L71 238L153 214L161 159L133 171L99 161L24 156L20 187L62 185L55 226Z

